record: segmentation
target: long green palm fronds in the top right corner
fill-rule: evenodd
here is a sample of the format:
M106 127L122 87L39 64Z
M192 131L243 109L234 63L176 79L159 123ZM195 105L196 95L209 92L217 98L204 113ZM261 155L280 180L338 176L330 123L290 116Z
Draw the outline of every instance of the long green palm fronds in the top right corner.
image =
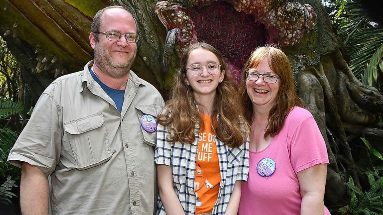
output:
M378 88L378 75L383 76L383 27L374 22L361 0L323 2L350 55L355 77Z

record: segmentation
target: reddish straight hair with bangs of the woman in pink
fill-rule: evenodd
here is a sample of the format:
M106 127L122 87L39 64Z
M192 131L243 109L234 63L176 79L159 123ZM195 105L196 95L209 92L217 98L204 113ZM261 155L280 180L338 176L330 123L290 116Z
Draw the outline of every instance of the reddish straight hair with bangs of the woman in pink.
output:
M269 111L269 117L264 137L268 135L274 136L282 129L287 114L294 106L303 107L302 101L296 94L293 81L293 73L291 70L289 59L286 54L279 48L272 46L258 47L250 55L249 59L243 66L242 81L239 87L239 93L242 99L242 106L246 110L245 118L249 124L253 118L253 103L246 91L246 70L256 68L259 62L268 57L269 66L275 74L281 77L277 97L274 106Z

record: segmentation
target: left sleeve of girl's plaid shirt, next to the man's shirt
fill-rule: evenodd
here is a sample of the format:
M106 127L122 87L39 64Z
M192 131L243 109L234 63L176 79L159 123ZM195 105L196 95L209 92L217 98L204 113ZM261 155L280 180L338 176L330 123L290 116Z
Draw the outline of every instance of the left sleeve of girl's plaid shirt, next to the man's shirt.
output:
M167 128L157 125L156 149L154 151L154 162L156 164L165 164L171 166L171 144L167 140L169 134Z

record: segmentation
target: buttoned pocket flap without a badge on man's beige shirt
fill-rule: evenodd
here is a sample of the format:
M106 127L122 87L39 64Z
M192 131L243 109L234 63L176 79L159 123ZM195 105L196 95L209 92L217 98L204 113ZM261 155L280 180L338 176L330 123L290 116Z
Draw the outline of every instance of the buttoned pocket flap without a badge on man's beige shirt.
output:
M64 123L64 130L70 134L80 134L100 127L104 123L101 112Z

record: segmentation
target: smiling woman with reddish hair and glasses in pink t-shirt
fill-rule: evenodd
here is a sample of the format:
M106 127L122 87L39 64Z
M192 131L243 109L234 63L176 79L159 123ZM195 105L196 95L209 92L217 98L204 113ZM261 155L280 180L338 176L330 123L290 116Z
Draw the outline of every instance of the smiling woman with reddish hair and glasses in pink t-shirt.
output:
M244 66L240 94L251 133L238 214L330 214L323 204L325 141L296 95L287 56L257 48Z

